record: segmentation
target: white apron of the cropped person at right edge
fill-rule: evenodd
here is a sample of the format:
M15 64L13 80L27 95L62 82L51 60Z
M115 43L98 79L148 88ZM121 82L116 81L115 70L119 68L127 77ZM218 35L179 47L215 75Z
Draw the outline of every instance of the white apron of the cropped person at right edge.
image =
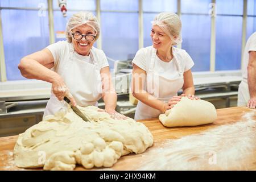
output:
M249 86L247 80L243 78L238 87L238 100L237 106L247 106L247 102L250 100Z

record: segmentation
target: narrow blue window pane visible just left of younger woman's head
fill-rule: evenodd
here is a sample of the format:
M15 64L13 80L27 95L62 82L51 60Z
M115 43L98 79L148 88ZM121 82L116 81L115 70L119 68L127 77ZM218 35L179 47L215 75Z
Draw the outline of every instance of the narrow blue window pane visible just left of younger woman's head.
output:
M144 35L144 46L143 47L147 47L147 46L152 46L152 40L151 40L151 36L150 36L150 32L151 32L151 21L155 18L155 16L157 15L157 13L144 13L143 14L143 35Z

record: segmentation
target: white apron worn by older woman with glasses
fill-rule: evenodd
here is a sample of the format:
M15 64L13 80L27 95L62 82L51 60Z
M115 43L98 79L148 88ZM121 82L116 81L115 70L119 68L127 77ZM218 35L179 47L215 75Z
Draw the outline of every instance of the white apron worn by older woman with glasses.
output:
M97 61L94 60L95 56L93 56L92 50L90 50L90 57L93 64L82 60L83 57L74 50L71 44L68 60L62 65L56 65L58 67L57 73L63 78L77 105L97 106L97 101L101 98L102 93L100 68ZM65 101L59 101L55 94L51 93L43 117L55 114L61 109L67 109L67 106Z

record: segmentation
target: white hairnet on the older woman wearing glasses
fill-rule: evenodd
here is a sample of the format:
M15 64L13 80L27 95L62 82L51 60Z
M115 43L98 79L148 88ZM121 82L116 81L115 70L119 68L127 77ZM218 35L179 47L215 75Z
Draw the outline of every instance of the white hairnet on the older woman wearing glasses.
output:
M100 24L98 23L98 19L90 12L81 11L79 13L73 14L68 20L66 26L66 38L69 43L72 42L71 30L81 26L82 24L88 24L90 27L92 27L96 31L95 40L98 39L98 36L100 36Z

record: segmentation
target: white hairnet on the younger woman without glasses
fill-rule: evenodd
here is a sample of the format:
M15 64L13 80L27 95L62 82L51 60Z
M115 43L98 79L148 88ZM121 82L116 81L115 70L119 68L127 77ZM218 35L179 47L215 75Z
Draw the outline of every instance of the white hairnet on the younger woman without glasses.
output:
M155 19L151 22L152 25L159 26L164 33L170 36L174 45L182 42L181 38L181 20L175 13L160 13L155 16Z

